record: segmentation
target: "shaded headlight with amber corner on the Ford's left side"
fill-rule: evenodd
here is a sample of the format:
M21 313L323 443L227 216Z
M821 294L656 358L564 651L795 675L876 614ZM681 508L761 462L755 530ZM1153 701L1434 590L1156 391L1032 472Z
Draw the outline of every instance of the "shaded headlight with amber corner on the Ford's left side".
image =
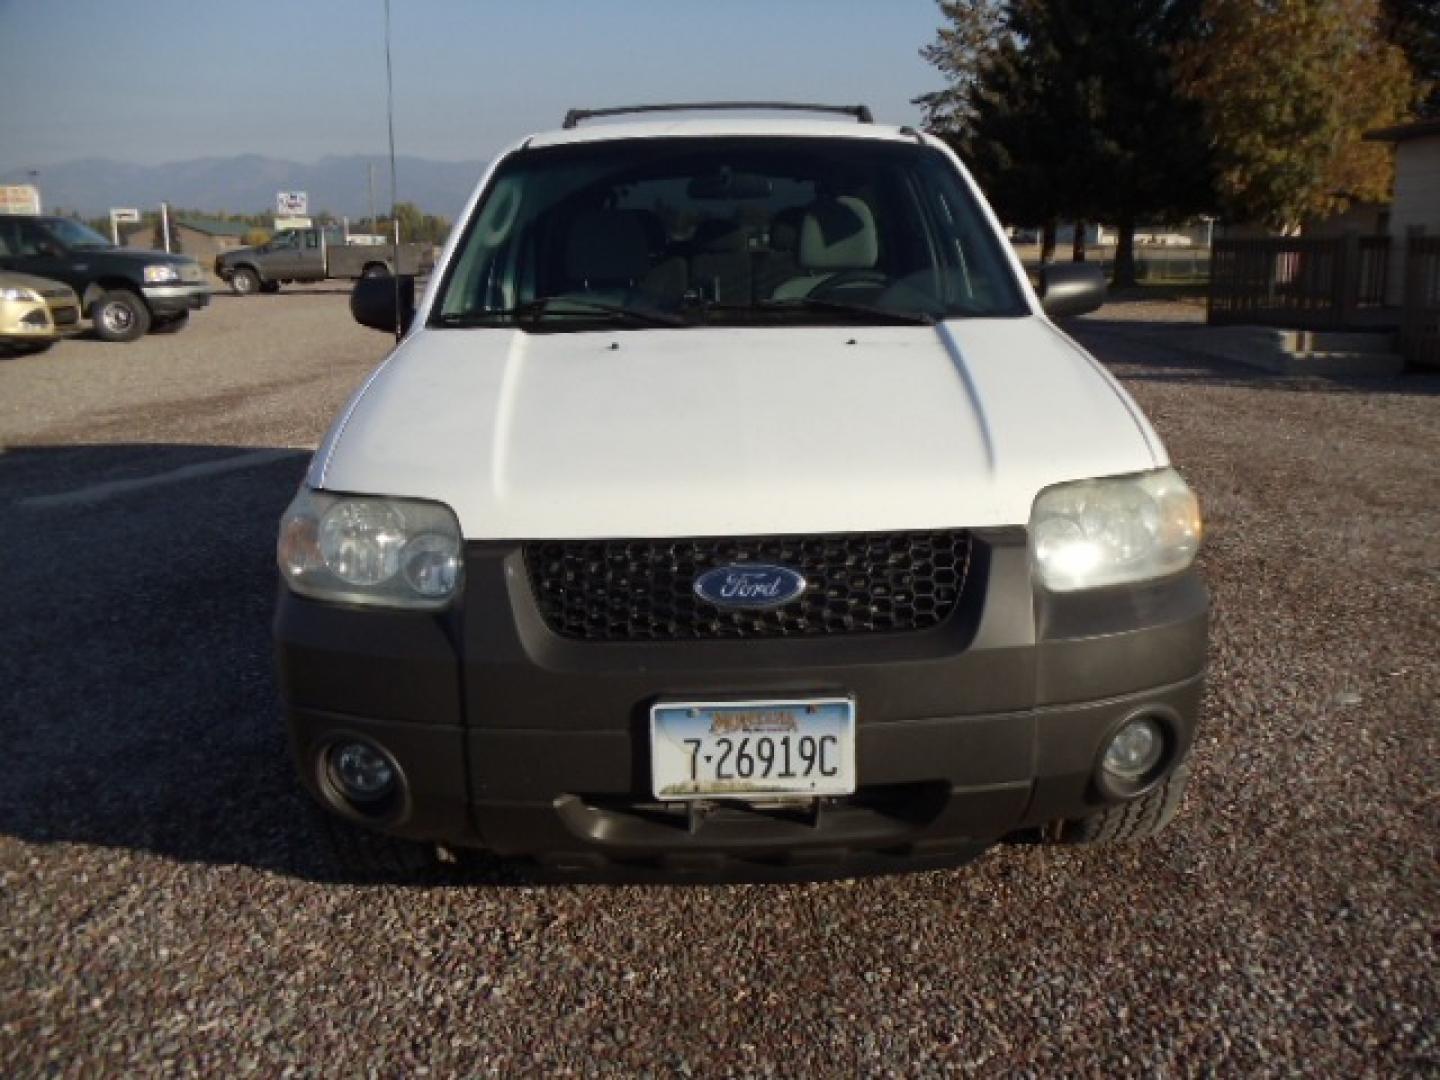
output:
M444 608L464 577L449 507L305 487L281 518L276 559L301 596L384 608Z

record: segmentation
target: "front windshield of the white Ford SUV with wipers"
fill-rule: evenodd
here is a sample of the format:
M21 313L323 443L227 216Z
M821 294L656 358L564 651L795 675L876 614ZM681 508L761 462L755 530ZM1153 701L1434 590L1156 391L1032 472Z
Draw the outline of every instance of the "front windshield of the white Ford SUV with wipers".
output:
M495 171L432 325L546 333L1028 314L950 160L857 138L657 138Z

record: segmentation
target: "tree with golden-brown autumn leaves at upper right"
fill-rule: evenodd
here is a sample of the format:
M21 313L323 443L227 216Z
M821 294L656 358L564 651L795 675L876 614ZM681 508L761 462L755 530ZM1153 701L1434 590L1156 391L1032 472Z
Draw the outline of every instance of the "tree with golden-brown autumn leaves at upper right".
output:
M1362 141L1413 99L1377 0L1202 0L1176 52L1214 140L1228 216L1292 230L1310 215L1390 193L1390 148Z

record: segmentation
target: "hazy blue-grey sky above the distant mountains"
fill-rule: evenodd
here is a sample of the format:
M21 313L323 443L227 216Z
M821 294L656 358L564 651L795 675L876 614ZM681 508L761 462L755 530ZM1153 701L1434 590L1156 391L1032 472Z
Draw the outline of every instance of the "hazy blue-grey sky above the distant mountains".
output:
M868 104L914 122L933 0L392 0L396 150L485 158L567 107ZM0 0L0 180L383 151L383 0Z

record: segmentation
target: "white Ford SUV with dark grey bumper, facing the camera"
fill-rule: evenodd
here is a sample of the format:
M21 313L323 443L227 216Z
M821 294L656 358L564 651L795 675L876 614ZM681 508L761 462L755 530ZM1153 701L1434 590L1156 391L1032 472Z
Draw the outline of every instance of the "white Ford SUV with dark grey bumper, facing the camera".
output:
M945 143L841 111L572 114L418 304L356 285L403 340L284 514L275 639L387 857L812 877L1175 814L1200 511L1053 321L1103 278L1037 295Z

